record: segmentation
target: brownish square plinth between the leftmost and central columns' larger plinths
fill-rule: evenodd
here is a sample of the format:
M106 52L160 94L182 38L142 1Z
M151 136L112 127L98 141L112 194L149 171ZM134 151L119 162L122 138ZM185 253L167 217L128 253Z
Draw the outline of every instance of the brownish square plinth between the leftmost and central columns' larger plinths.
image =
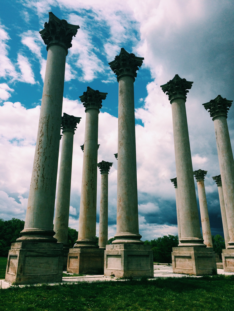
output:
M103 248L70 248L67 257L67 272L77 274L103 274Z

